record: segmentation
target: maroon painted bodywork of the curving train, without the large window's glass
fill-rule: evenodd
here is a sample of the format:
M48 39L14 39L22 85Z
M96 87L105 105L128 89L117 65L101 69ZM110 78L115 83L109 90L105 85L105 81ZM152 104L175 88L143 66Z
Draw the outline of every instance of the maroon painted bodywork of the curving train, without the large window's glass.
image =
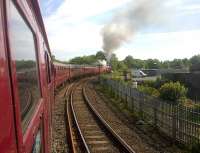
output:
M11 51L8 26L11 1L0 0L0 153L31 153L38 133L42 152L49 153L54 88L80 76L109 71L109 67L53 64L38 1L13 0L36 37L38 78L42 94L23 132L16 63Z

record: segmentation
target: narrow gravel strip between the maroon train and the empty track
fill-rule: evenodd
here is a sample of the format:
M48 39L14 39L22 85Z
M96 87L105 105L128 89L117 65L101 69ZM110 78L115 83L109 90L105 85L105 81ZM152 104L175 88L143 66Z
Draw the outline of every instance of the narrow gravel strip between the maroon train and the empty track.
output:
M55 105L52 115L52 153L68 152L65 127L65 99L64 94L67 87L58 91L55 97Z

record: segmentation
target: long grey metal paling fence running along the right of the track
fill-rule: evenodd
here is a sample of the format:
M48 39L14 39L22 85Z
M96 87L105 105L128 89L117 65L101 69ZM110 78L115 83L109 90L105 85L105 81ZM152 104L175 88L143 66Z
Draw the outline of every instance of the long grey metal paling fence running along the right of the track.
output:
M173 140L184 144L200 142L199 110L153 98L118 81L101 78L100 83L123 99L130 111L139 114Z

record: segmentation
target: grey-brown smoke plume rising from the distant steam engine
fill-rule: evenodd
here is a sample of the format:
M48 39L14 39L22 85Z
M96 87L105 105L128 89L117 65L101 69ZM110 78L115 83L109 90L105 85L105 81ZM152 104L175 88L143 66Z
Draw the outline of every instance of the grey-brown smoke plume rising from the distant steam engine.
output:
M109 61L114 50L131 40L138 29L161 21L161 0L132 0L102 29L103 50Z

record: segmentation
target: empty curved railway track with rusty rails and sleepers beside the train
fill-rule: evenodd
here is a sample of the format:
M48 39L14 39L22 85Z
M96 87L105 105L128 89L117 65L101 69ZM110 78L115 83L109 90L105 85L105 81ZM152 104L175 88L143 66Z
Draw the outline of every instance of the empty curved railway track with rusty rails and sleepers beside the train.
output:
M67 91L67 129L73 153L135 153L91 105L84 81Z

